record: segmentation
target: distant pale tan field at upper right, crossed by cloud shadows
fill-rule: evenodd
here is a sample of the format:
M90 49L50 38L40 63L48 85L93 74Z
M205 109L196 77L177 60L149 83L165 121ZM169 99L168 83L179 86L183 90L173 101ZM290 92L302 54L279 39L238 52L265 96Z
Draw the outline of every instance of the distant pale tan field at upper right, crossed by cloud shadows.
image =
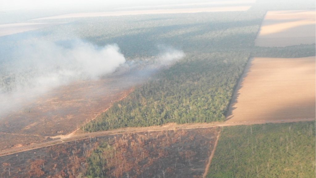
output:
M255 45L284 47L315 43L315 11L268 11Z

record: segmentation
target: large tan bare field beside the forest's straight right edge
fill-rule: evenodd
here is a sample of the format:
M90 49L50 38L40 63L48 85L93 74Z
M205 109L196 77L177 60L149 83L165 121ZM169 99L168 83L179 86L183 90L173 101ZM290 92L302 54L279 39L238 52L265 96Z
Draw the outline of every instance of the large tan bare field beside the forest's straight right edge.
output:
M315 56L254 58L228 122L315 118Z

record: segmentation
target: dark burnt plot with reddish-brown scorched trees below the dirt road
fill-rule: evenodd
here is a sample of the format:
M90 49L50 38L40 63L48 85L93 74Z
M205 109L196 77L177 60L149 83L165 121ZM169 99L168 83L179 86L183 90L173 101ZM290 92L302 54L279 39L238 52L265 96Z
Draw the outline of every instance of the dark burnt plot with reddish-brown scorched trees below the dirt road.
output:
M131 132L61 143L1 157L0 176L79 177L103 169L106 177L202 177L219 130ZM98 171L91 168L96 159Z

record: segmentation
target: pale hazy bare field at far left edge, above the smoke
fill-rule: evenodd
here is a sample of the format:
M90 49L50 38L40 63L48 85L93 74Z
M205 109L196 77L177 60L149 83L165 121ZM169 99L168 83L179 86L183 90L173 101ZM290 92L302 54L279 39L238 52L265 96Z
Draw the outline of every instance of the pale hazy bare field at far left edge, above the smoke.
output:
M0 36L41 29L57 25L59 23L9 23L0 24Z

